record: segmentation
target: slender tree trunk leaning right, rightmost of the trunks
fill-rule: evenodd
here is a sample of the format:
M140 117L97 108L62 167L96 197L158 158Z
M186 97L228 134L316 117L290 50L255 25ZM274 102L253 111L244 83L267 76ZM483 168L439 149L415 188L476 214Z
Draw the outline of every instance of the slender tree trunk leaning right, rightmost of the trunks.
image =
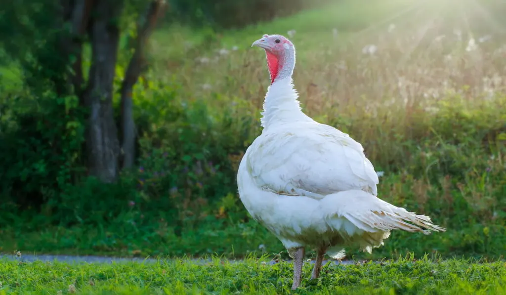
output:
M135 121L134 121L134 103L132 101L132 91L139 75L146 67L145 47L149 35L153 31L156 21L161 15L165 2L163 0L153 0L149 4L146 14L142 16L137 27L137 37L135 39L135 53L126 69L125 77L121 84L121 130L122 130L122 152L123 169L131 168L135 160Z

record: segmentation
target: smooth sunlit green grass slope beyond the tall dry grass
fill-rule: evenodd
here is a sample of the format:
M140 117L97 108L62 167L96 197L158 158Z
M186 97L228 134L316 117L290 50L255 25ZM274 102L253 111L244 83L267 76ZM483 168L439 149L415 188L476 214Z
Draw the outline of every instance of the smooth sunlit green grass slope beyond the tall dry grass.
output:
M364 5L367 4L367 5ZM262 34L286 34L289 30L296 30L297 34L315 37L318 41L325 41L332 34L333 29L341 33L350 34L369 27L387 28L391 21L406 20L406 14L418 7L415 0L387 0L387 1L335 1L320 8L309 9L291 16L275 19L271 22L252 24L238 30L228 30L219 35L224 46L249 47L253 40ZM209 29L190 30L185 27L173 26L154 32L156 45L163 47L165 56L178 55L184 52L185 43L194 45L204 43L212 31Z

